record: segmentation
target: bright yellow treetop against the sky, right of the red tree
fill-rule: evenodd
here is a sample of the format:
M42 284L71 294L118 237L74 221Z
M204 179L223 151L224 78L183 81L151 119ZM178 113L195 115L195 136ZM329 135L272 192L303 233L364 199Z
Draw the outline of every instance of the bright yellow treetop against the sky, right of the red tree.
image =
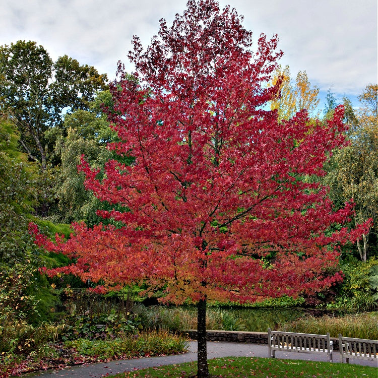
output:
M311 87L305 71L299 71L295 83L290 77L290 68L281 67L275 72L272 85L279 85L280 92L274 100L270 102L271 109L277 109L278 119L290 119L299 110L306 109L309 114L316 112L319 105L319 88Z

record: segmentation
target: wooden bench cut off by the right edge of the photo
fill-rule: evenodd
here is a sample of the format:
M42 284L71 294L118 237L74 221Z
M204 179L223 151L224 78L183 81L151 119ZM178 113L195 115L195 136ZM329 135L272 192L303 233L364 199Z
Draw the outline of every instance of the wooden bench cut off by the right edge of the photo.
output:
M355 339L339 334L341 361L349 363L349 358L378 361L378 340Z

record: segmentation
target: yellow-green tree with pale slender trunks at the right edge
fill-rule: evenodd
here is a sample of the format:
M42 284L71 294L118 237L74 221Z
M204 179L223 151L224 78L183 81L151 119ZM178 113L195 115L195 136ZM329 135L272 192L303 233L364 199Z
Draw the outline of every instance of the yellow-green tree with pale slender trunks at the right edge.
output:
M369 248L374 255L377 248L378 224L378 121L376 111L377 85L368 85L359 96L361 107L353 111L344 99L349 145L335 151L331 159L330 174L326 183L331 188L334 201L354 201L353 222L371 218L371 228L357 240L360 259L366 262ZM375 101L374 101L375 99Z

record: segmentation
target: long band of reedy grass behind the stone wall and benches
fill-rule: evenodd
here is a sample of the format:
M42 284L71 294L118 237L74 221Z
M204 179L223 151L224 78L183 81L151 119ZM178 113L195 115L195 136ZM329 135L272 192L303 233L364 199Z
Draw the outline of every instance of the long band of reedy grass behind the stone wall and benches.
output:
M165 307L137 304L133 308L144 329L182 331L197 329L197 309L191 307ZM325 314L311 316L302 309L286 308L220 308L207 310L206 329L223 331L267 332L268 327L290 332L326 334L338 337L378 339L376 323L378 312Z

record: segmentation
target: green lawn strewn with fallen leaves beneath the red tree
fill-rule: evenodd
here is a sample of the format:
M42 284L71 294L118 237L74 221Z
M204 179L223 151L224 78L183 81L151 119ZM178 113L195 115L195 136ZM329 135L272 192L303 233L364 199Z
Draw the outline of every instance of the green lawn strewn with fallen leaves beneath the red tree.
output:
M219 378L377 378L378 368L346 363L226 357L209 360L209 370ZM183 363L112 375L118 378L194 377L197 363Z

